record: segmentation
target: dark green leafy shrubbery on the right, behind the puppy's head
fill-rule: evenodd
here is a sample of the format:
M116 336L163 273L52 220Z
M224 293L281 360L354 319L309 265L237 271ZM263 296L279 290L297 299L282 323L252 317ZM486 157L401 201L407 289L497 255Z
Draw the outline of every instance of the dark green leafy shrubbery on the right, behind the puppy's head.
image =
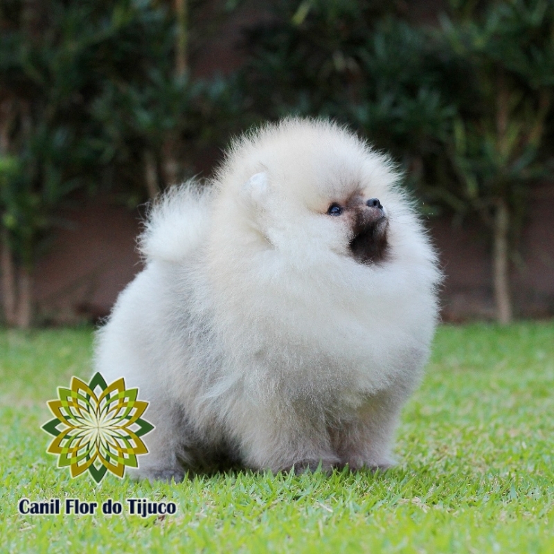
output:
M399 17L395 4L278 6L247 37L251 110L349 123L401 162L427 211L479 214L498 318L510 321L509 260L527 185L552 161L554 4L452 1L438 28Z

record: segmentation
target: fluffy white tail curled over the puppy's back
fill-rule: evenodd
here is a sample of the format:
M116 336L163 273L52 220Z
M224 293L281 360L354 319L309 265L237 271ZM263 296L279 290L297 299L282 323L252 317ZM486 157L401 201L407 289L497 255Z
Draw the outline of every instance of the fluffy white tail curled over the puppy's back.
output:
M168 188L150 206L139 251L147 261L180 262L205 240L211 186L191 179Z

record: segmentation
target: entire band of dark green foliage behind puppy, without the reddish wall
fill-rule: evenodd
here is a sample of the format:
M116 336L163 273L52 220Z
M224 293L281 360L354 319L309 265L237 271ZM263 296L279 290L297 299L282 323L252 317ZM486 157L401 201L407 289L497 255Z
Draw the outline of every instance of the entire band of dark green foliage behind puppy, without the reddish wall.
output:
M510 321L524 199L552 168L554 3L451 0L429 24L401 1L280 0L243 29L236 71L195 78L191 59L240 4L0 0L6 321L33 321L35 262L79 191L136 206L287 114L391 152L425 213L481 217Z

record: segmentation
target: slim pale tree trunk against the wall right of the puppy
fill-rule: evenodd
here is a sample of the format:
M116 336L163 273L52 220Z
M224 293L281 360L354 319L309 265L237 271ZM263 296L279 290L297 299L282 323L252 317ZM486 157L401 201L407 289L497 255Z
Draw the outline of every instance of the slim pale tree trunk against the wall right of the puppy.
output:
M494 302L497 320L506 324L512 321L512 298L510 297L510 263L508 257L508 230L510 213L505 199L499 199L494 214Z

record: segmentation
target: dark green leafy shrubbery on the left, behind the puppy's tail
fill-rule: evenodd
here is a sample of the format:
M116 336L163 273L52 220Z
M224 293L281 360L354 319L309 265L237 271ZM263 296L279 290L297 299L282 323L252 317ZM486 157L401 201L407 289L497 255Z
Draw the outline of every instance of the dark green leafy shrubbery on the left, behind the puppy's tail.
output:
M33 266L64 202L116 188L139 202L190 176L190 138L226 140L237 102L226 81L176 71L177 22L163 4L0 9L3 298L8 323L28 326Z

